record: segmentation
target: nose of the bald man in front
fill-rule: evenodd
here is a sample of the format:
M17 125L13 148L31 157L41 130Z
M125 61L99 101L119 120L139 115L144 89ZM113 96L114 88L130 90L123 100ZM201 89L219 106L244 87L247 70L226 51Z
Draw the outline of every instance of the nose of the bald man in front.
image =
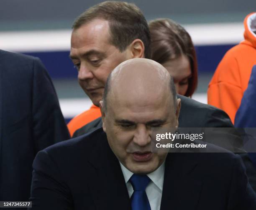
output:
M137 125L133 142L141 147L148 145L151 142L150 132L146 125Z

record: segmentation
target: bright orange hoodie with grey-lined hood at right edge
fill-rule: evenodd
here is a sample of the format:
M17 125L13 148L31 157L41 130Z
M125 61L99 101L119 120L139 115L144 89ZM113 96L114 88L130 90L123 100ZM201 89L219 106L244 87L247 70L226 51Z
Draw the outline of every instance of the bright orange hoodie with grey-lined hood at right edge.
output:
M256 22L256 13L246 16L245 40L228 50L208 85L208 104L224 110L233 123L252 67L256 65L256 35L249 29L252 19Z

